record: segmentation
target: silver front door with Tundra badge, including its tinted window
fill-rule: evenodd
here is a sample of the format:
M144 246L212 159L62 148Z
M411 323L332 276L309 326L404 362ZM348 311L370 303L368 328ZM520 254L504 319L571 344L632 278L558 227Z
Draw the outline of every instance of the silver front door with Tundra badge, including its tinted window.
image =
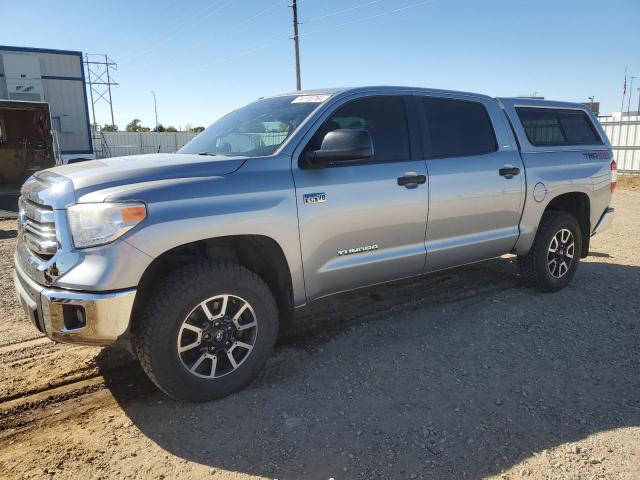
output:
M399 95L344 100L294 156L307 300L422 272L428 184L412 112ZM368 130L373 156L309 168L305 152L338 128Z

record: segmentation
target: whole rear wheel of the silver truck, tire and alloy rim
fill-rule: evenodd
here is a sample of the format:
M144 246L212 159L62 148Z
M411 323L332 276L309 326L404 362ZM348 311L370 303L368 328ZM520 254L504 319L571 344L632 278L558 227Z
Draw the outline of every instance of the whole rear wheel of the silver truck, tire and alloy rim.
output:
M566 287L576 274L582 251L582 231L576 218L565 212L546 212L533 246L518 256L520 275L542 292Z

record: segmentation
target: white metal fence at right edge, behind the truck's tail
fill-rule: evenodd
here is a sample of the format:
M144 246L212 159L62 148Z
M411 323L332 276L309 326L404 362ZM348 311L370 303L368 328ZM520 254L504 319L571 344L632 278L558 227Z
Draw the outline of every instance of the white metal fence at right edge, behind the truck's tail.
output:
M640 173L640 115L600 117L600 124L613 146L618 171Z

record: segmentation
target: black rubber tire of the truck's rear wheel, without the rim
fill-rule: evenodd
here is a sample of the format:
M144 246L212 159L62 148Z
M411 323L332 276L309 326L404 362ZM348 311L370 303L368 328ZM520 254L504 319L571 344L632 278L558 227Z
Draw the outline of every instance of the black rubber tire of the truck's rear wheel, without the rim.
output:
M568 271L560 278L551 275L547 265L547 255L553 237L562 229L567 229L575 241L574 255ZM566 212L547 211L542 216L531 250L527 255L518 256L518 267L522 281L541 292L557 292L573 279L580 262L582 251L582 231L576 218Z

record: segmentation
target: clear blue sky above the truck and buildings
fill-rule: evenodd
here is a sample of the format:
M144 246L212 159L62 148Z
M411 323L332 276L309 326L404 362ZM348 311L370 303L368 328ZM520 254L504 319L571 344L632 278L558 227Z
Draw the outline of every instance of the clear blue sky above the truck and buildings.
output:
M209 125L295 89L288 0L0 0L0 44L106 53L121 129ZM638 0L302 0L303 88L414 85L588 101L640 87ZM626 108L626 101L625 101ZM635 109L635 108L632 108ZM98 123L109 121L106 108Z

